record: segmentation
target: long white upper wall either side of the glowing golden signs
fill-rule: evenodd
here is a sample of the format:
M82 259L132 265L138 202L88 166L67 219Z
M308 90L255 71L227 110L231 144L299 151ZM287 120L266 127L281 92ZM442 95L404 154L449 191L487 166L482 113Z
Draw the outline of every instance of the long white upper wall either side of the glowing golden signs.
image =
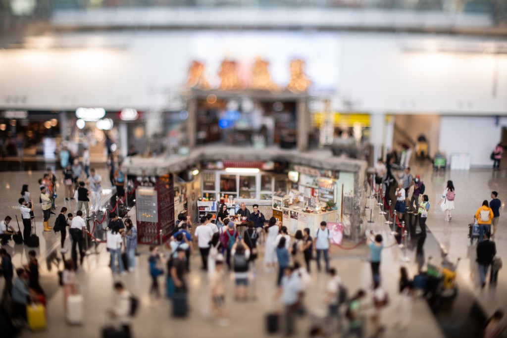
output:
M227 33L216 34L228 39ZM331 36L325 41L336 44L333 48L302 42L298 47L313 49L303 53L313 58L308 60L309 69L318 69L331 79L327 84L335 84L331 91L339 98L334 102L348 99L355 111L507 115L506 55L414 51L443 47L477 51L494 47L494 41L374 32L295 34L307 34L306 40L312 34ZM205 56L202 50L195 55L198 36L202 32L68 33L56 37L63 49L0 50L0 108L162 107L182 91L192 59ZM40 47L45 43L32 42ZM220 46L202 48L210 55L231 56ZM313 57L319 53L320 58ZM265 55L269 52L260 48L251 58ZM329 59L336 65L327 66ZM329 91L314 94L327 97ZM345 106L338 103L335 108Z

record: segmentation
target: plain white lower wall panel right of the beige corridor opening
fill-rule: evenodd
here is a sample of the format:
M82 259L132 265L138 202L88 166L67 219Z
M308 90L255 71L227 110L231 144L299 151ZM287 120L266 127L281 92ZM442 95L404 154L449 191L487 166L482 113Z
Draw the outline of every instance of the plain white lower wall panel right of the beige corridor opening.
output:
M440 118L439 148L450 159L451 153L469 153L470 165L492 166L491 152L501 140L502 126L507 120L495 124L494 117L453 117Z

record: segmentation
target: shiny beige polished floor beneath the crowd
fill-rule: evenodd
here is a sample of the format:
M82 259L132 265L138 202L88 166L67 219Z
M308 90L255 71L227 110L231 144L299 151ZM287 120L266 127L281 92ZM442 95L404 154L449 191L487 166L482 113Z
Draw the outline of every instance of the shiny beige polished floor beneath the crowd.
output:
M456 303L447 304L445 308L432 309L422 298L416 298L413 303L413 313L410 325L406 331L398 331L395 325L399 322L401 316L410 314L400 313L397 307L397 280L399 278L399 268L406 265L412 273L417 271L417 260L413 245L408 242L408 249L400 249L393 236L390 235L390 229L385 224L385 218L379 215L379 208L372 202L372 214L374 223L367 223L368 230L373 229L382 233L386 238L386 249L382 255L381 274L383 277L383 287L390 294L390 305L383 311L382 321L386 326L384 336L386 337L443 337L443 336L471 336L459 334L454 326L463 326L468 321L469 315L475 316L474 304L476 300L481 309L479 313L485 312L490 315L496 308L505 309L506 300L499 295L505 294L506 277L499 275L499 283L496 288L485 288L481 290L477 287L477 267L475 264L474 248L475 244L470 246L467 235L467 224L472 219L472 214L480 206L482 200L489 197L490 190L497 190L502 199L502 189L505 191L507 183L505 181L505 172L491 173L490 171L447 171L432 172L427 166L415 166L414 174L419 173L426 183L426 194L430 196L433 208L429 212L428 228L431 232L425 244L425 260L427 256L433 255L436 258L442 245L452 259L461 258L458 266L458 283L460 295L464 297L456 298ZM103 174L101 172L101 174ZM2 215L17 212L16 200L19 194L21 184L27 182L31 190L35 191L37 179L41 172L6 172L0 176L0 187L5 194L0 196L0 211ZM102 175L104 176L104 175ZM456 186L456 210L453 213L451 222L444 221L444 215L436 205L440 197L443 186L447 179L453 179ZM38 196L34 194L34 196ZM58 197L62 198L61 196ZM373 200L372 200L373 201ZM63 205L63 200L57 201L58 205ZM368 211L368 210L367 210ZM37 220L38 230L42 228L41 212ZM134 212L130 213L135 220ZM37 214L36 214L37 215ZM367 212L366 220L369 219ZM495 241L498 252L501 256L505 254L505 245L503 244L507 237L506 230L502 228L505 224L500 218L499 230ZM434 237L433 237L434 236ZM68 239L67 239L68 241ZM54 233L41 234L40 260L43 262L49 252L58 247L59 236ZM344 246L351 246L351 243L345 243ZM66 247L69 243L66 243ZM26 249L20 245L10 243L8 250L13 253L13 262L16 266L26 262ZM105 250L104 244L97 247L97 253L87 256L83 269L78 273L80 282L80 291L85 296L85 325L69 326L64 320L62 310L62 290L58 288L56 270L53 268L48 271L46 264L42 264L41 279L42 285L50 294L48 302L48 329L42 332L30 332L24 330L22 337L97 337L100 336L101 327L111 324L111 320L106 316L106 310L111 307L114 299L112 282L115 278L111 270L107 267L109 256ZM251 300L245 303L237 303L233 299L233 281L227 279L227 299L225 306L226 316L230 320L228 327L219 327L209 314L209 293L207 288L206 274L199 270L200 257L196 253L191 258L190 281L190 305L191 312L185 320L175 320L170 316L170 302L166 299L154 302L148 295L150 278L148 276L148 248L146 245L140 246L140 256L137 258L138 268L135 272L126 276L116 277L125 282L127 287L141 299L141 307L136 318L133 320L133 332L136 337L186 337L201 336L205 334L210 337L256 337L265 336L265 315L279 307L279 304L273 300L276 293L275 274L267 273L262 266L262 259L258 262L255 278L250 285ZM164 253L168 253L163 248ZM405 262L405 257L410 259ZM349 292L353 293L358 288L369 289L371 285L371 273L368 263L367 250L359 247L354 250L343 250L334 247L332 250L332 266L336 267L340 277L348 286ZM306 290L305 303L309 315L298 320L298 336L308 336L308 331L314 317L321 313L325 306L322 299L325 295L325 284L328 276L314 271L312 273L312 285ZM160 290L164 292L164 278L160 278ZM3 286L3 281L0 286ZM471 296L470 296L471 295ZM253 299L255 298L255 299ZM367 305L371 304L371 295L367 297ZM466 309L465 309L466 308ZM465 309L465 310L464 310ZM463 310L466 313L463 313ZM370 310L371 311L371 310ZM367 311L368 314L368 311ZM460 322L461 321L461 322ZM454 329L454 331L453 331ZM335 329L330 336L338 336ZM371 333L371 325L367 326L367 332ZM454 334L453 334L454 332Z

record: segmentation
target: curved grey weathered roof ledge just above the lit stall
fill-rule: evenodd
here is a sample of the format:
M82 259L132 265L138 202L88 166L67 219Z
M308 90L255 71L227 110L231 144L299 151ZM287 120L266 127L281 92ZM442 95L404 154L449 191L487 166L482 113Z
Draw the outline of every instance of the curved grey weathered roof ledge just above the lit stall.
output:
M275 161L314 168L358 172L366 169L366 161L334 157L329 150L299 152L296 149L268 147L234 147L224 145L201 146L188 156L159 156L156 158L130 157L123 162L123 169L131 175L162 176L177 173L206 161Z

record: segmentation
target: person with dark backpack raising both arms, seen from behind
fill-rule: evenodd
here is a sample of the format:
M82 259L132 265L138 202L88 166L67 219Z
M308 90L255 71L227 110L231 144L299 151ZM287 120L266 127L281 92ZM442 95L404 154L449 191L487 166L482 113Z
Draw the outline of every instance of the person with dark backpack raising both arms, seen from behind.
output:
M250 250L243 239L238 237L232 246L231 254L234 257L234 297L236 301L246 301L248 298L248 258Z

